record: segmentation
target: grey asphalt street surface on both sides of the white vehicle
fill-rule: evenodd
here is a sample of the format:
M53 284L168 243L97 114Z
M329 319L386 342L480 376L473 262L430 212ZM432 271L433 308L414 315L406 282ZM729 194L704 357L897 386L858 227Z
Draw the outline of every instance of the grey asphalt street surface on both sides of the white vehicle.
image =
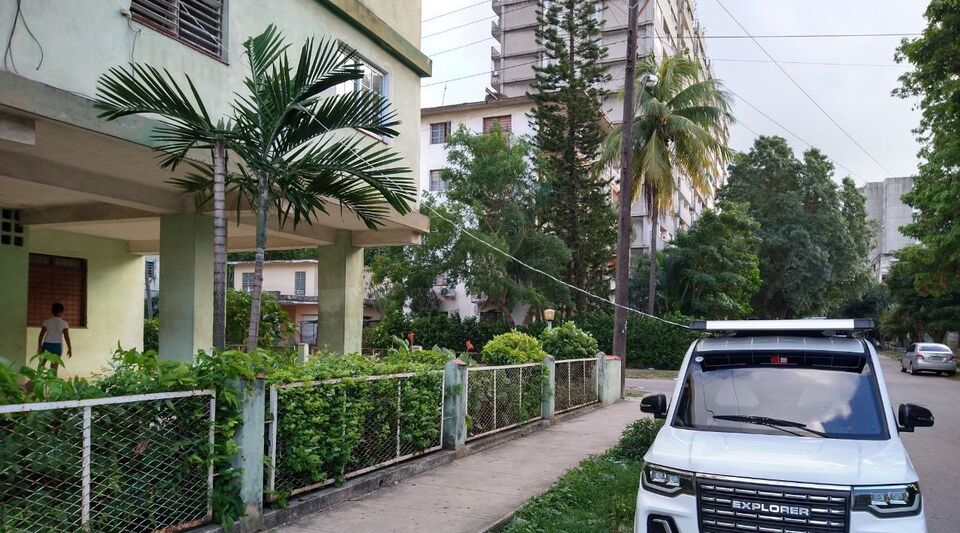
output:
M899 360L883 355L880 365L894 409L901 403L915 403L933 411L933 427L901 433L900 438L920 474L928 533L956 533L960 531L960 380L904 374ZM628 378L627 389L634 395L663 393L669 398L675 383L673 379Z

